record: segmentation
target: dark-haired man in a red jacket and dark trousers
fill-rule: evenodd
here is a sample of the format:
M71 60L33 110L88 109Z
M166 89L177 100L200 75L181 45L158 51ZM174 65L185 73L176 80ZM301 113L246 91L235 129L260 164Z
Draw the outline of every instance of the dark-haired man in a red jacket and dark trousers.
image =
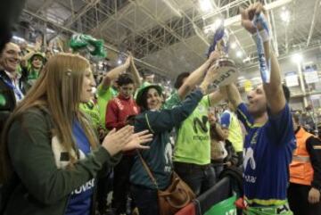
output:
M117 79L119 95L113 98L106 109L106 128L119 129L127 124L129 116L139 113L139 107L133 99L135 82L128 73L119 75ZM117 215L126 212L127 196L129 192L129 171L133 164L130 154L124 155L114 168L113 193L111 207Z

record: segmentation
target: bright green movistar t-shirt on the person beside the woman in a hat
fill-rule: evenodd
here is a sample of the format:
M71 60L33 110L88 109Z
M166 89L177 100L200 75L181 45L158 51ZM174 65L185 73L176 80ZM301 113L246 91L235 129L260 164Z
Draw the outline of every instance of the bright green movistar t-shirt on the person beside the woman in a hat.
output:
M203 96L193 113L177 129L174 161L210 163L209 95Z

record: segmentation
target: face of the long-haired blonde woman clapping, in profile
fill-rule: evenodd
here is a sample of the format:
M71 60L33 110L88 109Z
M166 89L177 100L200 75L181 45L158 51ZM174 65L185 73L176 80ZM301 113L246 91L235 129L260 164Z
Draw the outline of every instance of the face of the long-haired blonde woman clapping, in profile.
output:
M90 69L87 69L84 74L82 90L80 95L80 102L87 103L93 98L94 92L93 87L95 87L95 80Z

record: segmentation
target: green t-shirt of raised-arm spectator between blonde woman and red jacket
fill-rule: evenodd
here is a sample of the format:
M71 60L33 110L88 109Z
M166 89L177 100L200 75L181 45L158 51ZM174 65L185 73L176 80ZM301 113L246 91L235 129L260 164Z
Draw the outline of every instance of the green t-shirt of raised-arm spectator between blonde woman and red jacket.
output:
M100 123L105 128L105 117L106 117L106 109L107 103L118 95L118 92L114 90L112 87L108 87L107 89L103 89L102 85L97 88L97 104L99 109Z

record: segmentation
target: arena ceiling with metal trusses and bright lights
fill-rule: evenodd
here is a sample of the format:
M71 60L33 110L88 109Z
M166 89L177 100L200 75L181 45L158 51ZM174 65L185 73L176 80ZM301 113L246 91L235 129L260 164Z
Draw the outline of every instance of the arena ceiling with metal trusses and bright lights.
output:
M229 55L240 67L257 61L239 8L251 0L27 0L21 16L47 37L73 32L103 38L109 49L131 50L142 69L169 79L205 61L211 29L225 20ZM321 0L265 0L280 56L321 45Z

